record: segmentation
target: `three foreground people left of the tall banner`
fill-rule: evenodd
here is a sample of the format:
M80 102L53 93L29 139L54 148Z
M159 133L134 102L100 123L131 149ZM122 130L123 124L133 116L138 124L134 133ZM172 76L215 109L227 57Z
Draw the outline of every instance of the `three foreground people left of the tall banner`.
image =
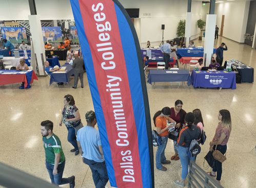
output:
M70 152L75 152L75 155L81 154L83 162L92 171L95 187L103 188L108 182L108 174L100 134L95 129L97 120L94 111L86 112L85 119L87 125L83 126L73 96L64 96L64 108L59 126L64 124L68 130L68 142L74 147ZM51 183L56 185L69 183L70 188L73 188L75 186L75 176L63 178L66 159L61 140L53 133L53 122L43 121L41 123L41 134L45 149L46 169Z

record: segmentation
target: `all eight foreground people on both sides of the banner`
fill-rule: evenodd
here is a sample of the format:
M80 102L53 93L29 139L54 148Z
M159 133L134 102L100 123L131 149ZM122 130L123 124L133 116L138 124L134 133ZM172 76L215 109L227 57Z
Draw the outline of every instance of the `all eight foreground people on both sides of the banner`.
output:
M102 143L99 131L95 129L97 119L94 111L88 111L85 114L87 125L84 126L81 121L81 115L75 105L73 96L64 96L64 107L59 126L66 126L68 132L68 142L75 152L75 155L81 154L82 161L87 164L92 171L92 179L95 187L105 187L108 182L108 173L106 169L105 159L103 155ZM229 140L231 126L231 115L228 110L220 110L218 114L218 126L214 135L208 135L211 139L209 150L219 150L222 154L227 151L227 143ZM157 134L161 137L162 145L157 146L155 153L156 169L167 171L166 165L171 160L180 160L182 166L181 178L175 180L174 183L179 186L185 186L185 179L188 175L189 162L195 161L195 156L188 154L192 140L201 142L202 134L204 134L205 123L203 121L200 109L194 109L192 112L186 112L183 109L183 102L176 100L173 107L164 107L157 111L153 116L153 123ZM175 128L169 131L173 125ZM53 133L53 122L47 120L41 123L41 134L43 136L43 146L46 156L46 169L49 173L51 182L56 185L70 184L75 185L75 176L63 178L65 169L65 155L61 145L60 138ZM174 154L165 155L168 139L173 141ZM203 146L202 146L203 147ZM165 165L165 166L164 166ZM210 176L216 177L220 182L222 176L222 163L215 159L212 171L208 172Z

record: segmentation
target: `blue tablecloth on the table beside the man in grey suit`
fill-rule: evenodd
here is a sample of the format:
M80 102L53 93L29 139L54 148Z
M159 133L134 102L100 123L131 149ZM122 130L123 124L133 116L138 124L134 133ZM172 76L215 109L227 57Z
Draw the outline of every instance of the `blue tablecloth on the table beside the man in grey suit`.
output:
M74 74L74 68L70 64L65 64L62 67L66 67L66 72L53 72L50 78L50 85L52 82L69 82L69 77Z

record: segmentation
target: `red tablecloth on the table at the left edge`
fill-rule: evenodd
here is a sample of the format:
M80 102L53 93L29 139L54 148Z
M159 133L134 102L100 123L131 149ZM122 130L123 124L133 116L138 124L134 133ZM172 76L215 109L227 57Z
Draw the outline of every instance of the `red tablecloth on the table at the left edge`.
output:
M31 81L29 85L32 84L34 80L38 80L38 78L34 73L34 70L32 70L32 76L31 76ZM19 82L25 82L24 84L25 88L28 86L26 74L16 74L16 75L0 74L0 85L13 84L13 83L19 83Z

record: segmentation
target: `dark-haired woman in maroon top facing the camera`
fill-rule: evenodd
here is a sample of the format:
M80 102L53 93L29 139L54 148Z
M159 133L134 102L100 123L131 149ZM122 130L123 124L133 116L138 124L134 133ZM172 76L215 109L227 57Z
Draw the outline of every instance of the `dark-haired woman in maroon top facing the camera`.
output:
M172 120L176 122L175 131L180 132L184 122L184 117L186 115L186 111L182 109L183 102L181 100L176 100L174 103L174 107L170 108L170 117ZM173 140L174 147L174 155L171 157L171 160L179 160L178 150L176 147L178 137L171 137Z

